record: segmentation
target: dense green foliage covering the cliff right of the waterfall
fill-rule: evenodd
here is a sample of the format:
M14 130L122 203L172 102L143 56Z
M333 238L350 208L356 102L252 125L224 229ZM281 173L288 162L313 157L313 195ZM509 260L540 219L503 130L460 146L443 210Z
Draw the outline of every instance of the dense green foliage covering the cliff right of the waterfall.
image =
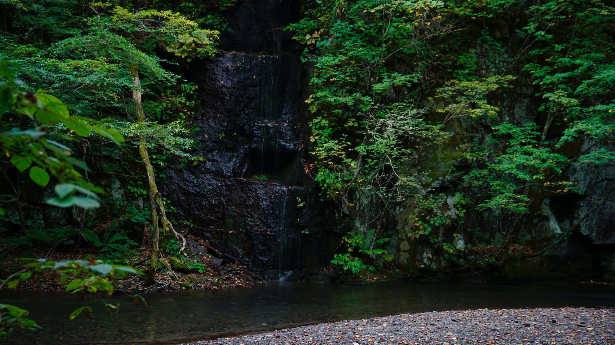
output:
M526 24L498 29L511 14ZM615 130L614 15L594 0L309 3L290 29L314 66L306 103L323 194L356 221L362 203L374 203L366 195L378 195L380 217L370 215L378 225L409 201L410 237L451 260L461 248L445 230L494 212L511 221L507 246L542 200L581 193L567 169L615 158L605 147ZM536 98L513 112L530 84ZM536 122L512 116L534 110ZM419 160L433 168L435 158L418 157L440 144L454 152L451 171L434 172L446 193L426 190L432 172L419 168Z

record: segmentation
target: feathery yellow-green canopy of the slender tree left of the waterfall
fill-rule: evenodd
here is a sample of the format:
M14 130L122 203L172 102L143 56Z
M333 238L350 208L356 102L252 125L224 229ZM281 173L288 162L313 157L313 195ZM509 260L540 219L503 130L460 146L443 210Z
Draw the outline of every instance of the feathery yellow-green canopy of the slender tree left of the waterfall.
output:
M186 120L196 106L196 85L178 82L177 75L161 66L168 61L158 58L153 50L164 47L188 60L212 56L218 31L201 29L195 21L170 10L129 10L106 2L85 4L85 12L81 12L80 6L62 6L69 13L84 16L85 28L56 36L55 42L39 47L6 39L12 47L2 54L13 56L14 62L23 68L16 72L25 81L24 87L63 90L58 98L74 104L82 114L102 120L109 132L121 131L129 142L138 141L143 134L148 148L160 150L162 155L192 160L194 164L204 161L189 154L194 142L186 138ZM140 123L131 118L134 109L127 95L134 88L135 71L140 75L142 93L159 93L156 101L146 101L145 109L162 123ZM118 121L118 117L124 118ZM87 122L69 117L46 125L52 133L86 136L92 141L109 139L96 128L87 130ZM64 135L62 139L71 138ZM38 172L34 169L33 177L44 183L44 174Z

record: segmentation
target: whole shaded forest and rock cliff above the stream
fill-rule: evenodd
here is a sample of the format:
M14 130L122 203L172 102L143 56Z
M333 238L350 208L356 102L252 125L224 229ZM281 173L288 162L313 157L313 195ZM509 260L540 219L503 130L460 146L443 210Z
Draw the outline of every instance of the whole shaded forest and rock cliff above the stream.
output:
M0 0L2 273L613 281L613 23L592 0Z

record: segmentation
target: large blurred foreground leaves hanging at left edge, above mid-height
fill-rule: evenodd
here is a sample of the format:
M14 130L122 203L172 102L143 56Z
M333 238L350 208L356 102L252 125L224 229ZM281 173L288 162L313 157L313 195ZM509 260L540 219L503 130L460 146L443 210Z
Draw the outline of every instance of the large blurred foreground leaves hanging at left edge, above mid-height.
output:
M58 198L49 200L50 204L58 207L97 207L99 204L95 193L103 190L85 182L76 170L81 168L87 171L87 166L71 157L72 150L69 147L48 139L47 133L40 126L56 125L62 121L68 128L77 129L79 136L87 136L90 131L95 131L114 142L124 141L124 138L115 130L90 125L87 122L92 120L87 118L71 117L68 106L54 96L40 91L31 93L18 90L21 82L14 78L5 60L0 60L0 77L3 80L0 82L0 150L6 157L10 157L10 163L18 171L30 169L30 179L41 187L49 183L49 174L60 182L55 188ZM26 129L18 126L23 120L30 122ZM58 136L68 138L65 134ZM77 192L85 197L74 196Z

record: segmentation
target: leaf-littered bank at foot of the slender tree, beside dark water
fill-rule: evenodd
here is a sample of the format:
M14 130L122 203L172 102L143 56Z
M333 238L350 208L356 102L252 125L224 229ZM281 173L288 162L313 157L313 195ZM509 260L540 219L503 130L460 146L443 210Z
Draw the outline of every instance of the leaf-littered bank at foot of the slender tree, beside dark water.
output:
M151 253L151 233L146 231L142 246L138 246L133 255L116 262L146 271ZM156 268L154 281L148 281L145 276L128 276L116 281L116 293L149 293L172 290L215 290L231 287L244 287L260 282L245 266L216 260L216 257L205 254L205 244L202 240L188 236L188 246L183 254L172 249L161 252ZM172 246L170 246L172 247ZM186 253L188 252L188 253ZM12 252L0 262L0 270L8 275L27 263L23 261L25 253ZM55 262L65 260L87 260L93 262L99 255L95 249L54 250L35 247L28 253L31 257L47 258ZM181 258L180 258L181 257ZM146 272L147 273L147 272ZM60 275L52 271L35 274L17 285L18 291L64 291L65 285L60 282Z

